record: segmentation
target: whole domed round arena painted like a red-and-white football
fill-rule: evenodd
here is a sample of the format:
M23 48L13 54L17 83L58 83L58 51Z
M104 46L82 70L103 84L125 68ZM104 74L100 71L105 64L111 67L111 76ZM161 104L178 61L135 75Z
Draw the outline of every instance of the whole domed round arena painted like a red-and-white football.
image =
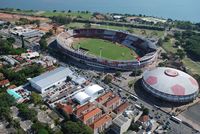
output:
M199 93L199 85L192 76L167 67L145 71L142 85L153 96L170 102L190 102Z

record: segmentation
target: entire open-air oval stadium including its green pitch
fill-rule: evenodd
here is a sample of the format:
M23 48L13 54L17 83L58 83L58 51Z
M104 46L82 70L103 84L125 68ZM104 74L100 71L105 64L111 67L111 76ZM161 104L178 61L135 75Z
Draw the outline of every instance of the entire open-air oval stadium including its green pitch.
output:
M59 34L56 40L66 56L97 68L129 71L157 57L154 43L124 31L75 29Z

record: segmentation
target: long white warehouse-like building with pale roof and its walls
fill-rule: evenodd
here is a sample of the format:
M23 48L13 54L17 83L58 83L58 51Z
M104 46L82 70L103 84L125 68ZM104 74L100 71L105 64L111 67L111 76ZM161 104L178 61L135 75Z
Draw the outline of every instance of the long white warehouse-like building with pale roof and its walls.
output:
M73 72L69 68L59 67L53 71L32 78L29 82L37 91L44 93L52 87L64 82L67 79L67 76L72 74Z

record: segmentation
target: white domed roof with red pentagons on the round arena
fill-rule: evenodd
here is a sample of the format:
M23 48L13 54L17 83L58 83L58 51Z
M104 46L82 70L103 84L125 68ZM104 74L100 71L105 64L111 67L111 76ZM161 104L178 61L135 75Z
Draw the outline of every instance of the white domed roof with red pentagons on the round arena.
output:
M199 90L192 76L173 68L158 67L145 71L143 80L153 89L169 95L185 96Z

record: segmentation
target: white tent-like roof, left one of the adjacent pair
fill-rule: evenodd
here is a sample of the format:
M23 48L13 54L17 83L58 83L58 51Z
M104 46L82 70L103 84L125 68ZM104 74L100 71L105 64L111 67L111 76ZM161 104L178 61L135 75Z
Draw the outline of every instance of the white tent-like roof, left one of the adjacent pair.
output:
M74 95L74 99L77 100L80 104L84 104L90 100L90 96L85 92L79 92Z

